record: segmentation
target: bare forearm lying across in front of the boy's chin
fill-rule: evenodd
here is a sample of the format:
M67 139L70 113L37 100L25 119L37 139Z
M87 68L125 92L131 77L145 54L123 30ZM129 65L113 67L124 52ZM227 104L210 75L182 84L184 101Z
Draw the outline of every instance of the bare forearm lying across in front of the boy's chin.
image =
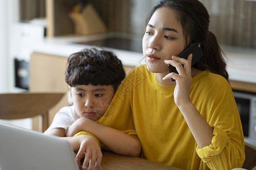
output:
M138 156L141 152L141 142L137 136L130 136L117 129L94 122L88 118L79 118L67 131L67 136L73 136L79 131L88 131L95 135L106 147L117 154Z

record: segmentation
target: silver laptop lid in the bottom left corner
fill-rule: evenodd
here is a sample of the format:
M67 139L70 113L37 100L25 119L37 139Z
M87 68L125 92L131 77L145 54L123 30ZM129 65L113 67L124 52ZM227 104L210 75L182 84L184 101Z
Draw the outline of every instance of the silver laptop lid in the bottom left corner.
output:
M0 169L79 169L64 139L0 123Z

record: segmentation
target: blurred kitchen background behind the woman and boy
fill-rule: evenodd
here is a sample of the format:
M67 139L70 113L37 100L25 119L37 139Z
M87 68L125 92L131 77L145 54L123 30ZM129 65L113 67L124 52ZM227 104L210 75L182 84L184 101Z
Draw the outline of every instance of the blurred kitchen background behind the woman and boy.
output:
M200 1L210 14L210 31L227 54L232 88L246 95L237 95L238 109L241 119L245 117L243 124L247 132L244 133L256 143L256 0ZM61 70L65 67L65 57L86 45L114 49L128 69L142 63L131 56L142 57L144 20L156 2L1 0L0 92L65 91L66 86L64 90L55 87L59 82L65 84ZM40 70L40 63L43 66L40 60L31 65L34 58L46 61L44 57L49 56L49 63L56 66L61 63L57 68L62 72L51 70L48 65L46 71ZM64 59L55 61L56 56ZM43 76L47 71L58 73L60 80L57 76L47 79L49 74ZM47 82L54 84L54 88Z

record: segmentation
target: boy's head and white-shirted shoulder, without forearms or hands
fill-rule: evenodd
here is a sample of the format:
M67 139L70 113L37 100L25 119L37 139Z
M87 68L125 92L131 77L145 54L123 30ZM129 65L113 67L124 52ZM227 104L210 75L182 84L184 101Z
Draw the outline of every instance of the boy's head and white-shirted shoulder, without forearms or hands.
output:
M98 120L123 78L122 62L112 52L92 48L71 54L65 81L69 85L73 105L61 108L44 134L65 137L69 126L78 118Z

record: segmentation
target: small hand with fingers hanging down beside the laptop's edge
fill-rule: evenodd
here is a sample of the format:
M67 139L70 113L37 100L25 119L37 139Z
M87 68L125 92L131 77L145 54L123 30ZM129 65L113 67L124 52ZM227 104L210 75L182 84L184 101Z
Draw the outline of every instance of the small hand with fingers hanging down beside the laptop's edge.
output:
M89 170L102 169L102 152L96 139L89 135L81 135L80 138L80 148L76 155L77 163L80 165L82 155L85 154L84 163L82 164L83 169L87 167Z

